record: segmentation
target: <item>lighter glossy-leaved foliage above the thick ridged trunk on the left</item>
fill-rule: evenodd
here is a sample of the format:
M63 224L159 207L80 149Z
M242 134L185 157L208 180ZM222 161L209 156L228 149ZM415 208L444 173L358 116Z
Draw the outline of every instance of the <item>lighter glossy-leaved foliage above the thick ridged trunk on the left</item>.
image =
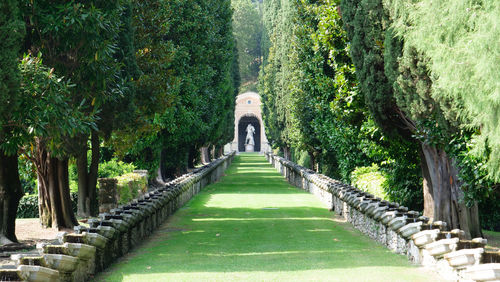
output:
M40 54L24 56L19 68L23 75L20 101L23 111L14 115L24 144L29 142L33 147L35 137L44 138L50 140L47 142L50 149L62 152L65 138L95 128L93 117L84 113L85 106L71 102L70 89L74 85L43 65Z

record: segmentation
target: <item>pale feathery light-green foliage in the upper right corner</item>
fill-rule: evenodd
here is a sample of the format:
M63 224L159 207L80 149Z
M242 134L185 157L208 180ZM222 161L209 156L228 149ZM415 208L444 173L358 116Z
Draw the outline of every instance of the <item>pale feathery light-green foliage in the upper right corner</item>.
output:
M475 153L487 160L489 177L500 181L499 5L469 0L384 3L397 34L429 58L432 98L456 101L460 111L452 108L445 114L456 116L463 127L480 128Z

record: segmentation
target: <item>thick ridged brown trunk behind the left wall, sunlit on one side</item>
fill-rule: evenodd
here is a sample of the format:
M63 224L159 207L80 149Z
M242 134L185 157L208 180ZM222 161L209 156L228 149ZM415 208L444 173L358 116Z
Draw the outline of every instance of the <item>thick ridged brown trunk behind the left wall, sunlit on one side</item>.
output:
M68 159L51 156L43 142L37 142L38 208L44 227L73 228L78 225L71 206Z

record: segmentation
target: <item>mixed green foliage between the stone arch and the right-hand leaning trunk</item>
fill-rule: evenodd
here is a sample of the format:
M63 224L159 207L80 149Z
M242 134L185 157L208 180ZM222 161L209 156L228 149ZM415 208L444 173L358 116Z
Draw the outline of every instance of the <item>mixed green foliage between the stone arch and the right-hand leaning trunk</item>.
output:
M264 2L269 52L263 50L259 89L267 137L275 147L307 152L322 173L345 182L357 167L378 164L387 196L419 208L418 145L407 141L411 132L384 73L384 34L377 34L383 22L376 19L384 13L370 1L345 2L342 18L337 1ZM363 21L367 11L350 14L358 5L373 6L369 17L380 30ZM358 85L356 78L371 81Z

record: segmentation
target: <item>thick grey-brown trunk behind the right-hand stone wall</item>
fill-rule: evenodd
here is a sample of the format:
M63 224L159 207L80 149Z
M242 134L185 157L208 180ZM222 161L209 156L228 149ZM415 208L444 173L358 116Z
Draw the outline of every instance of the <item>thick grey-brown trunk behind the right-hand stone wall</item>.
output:
M450 229L465 231L467 238L482 236L477 203L467 207L458 167L446 152L422 145L424 178L424 215L446 221Z

